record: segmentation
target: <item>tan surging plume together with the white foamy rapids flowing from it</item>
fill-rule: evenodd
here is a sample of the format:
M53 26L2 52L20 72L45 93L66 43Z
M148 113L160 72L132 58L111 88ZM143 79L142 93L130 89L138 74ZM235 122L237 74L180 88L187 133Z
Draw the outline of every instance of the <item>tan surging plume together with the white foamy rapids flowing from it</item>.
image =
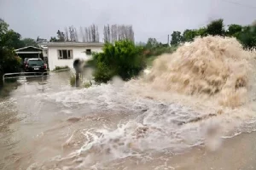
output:
M115 79L91 88L44 93L44 100L63 106L64 112L90 108L106 117L130 116L113 122L114 127L73 133L67 143L83 136L79 149L44 163L63 169L103 169L113 161L150 161L155 153L183 153L198 145L218 150L223 139L256 129L250 96L256 94L253 55L234 38L197 38L176 53L161 56L139 80Z

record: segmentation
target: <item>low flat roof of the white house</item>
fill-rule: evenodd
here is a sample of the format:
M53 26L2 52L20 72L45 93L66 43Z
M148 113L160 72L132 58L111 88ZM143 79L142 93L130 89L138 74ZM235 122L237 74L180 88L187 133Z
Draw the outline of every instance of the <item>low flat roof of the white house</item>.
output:
M47 47L103 47L102 42L45 42L40 43Z

